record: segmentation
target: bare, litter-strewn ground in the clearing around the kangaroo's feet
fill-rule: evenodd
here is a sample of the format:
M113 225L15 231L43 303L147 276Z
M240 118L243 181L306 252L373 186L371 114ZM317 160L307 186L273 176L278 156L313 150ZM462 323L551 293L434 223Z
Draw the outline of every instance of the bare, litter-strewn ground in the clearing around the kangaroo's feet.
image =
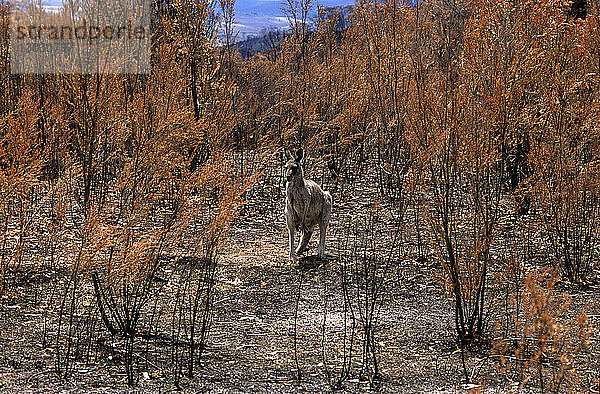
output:
M348 292L355 292L358 299L364 296L360 283L349 281L347 275L348 270L359 268L359 262L345 258L349 252L357 252L363 258L385 261L388 250L385 245L379 245L378 252L359 250L358 243L348 242L356 235L352 231L370 220L368 212L377 208L373 203L365 205L367 200L358 198L356 189L351 194L350 188L342 188L334 195L328 258L320 260L311 254L317 242L313 239L307 256L297 265L287 261L283 196L261 193L260 188L253 191L218 257L208 346L195 376L182 377L177 384L161 361L173 355L144 352L142 341L135 352L138 386L127 388L121 345L108 341L91 300L83 301L82 309L91 320L82 318L81 324L94 324L94 329L81 332L96 333L97 338L79 339L82 346L77 351L86 356L73 364L68 380L59 379L54 373L56 343L52 334L57 329L57 312L49 306L56 305L56 289L64 284L67 273L27 268L14 272L13 290L0 303L0 391L534 391L500 374L491 352L490 340L508 332L498 332L494 322L510 319L503 312L506 299L502 298L499 272L491 274L487 300L490 340L461 352L455 342L452 304L440 279L441 266L433 255L417 262L414 239L406 249L407 256L381 274L383 291L372 327L378 376L369 381L364 370L361 304L348 297ZM391 231L385 213L382 215L375 220L377 231ZM409 232L414 228L406 227ZM373 234L377 236L377 232ZM174 262L166 258L158 278L167 287L172 286L174 269ZM557 291L571 294L573 310L586 307L597 327L597 289L580 291L559 284ZM168 331L155 333L155 337L155 347L160 346L160 338L170 340ZM594 335L591 346L578 355L590 376L598 376L598 354ZM465 386L465 371L475 385Z

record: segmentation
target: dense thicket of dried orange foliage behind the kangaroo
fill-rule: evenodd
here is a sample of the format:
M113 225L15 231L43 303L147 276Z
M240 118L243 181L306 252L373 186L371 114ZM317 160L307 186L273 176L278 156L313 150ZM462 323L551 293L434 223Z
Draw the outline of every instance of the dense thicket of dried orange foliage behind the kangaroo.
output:
M220 4L230 29L232 2ZM336 186L372 182L376 198L410 208L415 257L440 261L463 343L485 337L488 272L515 210L544 230L527 237L543 238L546 259L588 285L600 243L597 11L361 2L309 33L310 4L289 1L291 33L242 61L216 40L214 2L176 0L154 16L149 75L11 76L3 31L0 293L26 242L43 242L41 263L100 275L116 310L132 294L147 301L161 258L216 256L262 159L292 145ZM238 160L247 152L252 171ZM543 324L524 335L562 340L531 283L527 318Z

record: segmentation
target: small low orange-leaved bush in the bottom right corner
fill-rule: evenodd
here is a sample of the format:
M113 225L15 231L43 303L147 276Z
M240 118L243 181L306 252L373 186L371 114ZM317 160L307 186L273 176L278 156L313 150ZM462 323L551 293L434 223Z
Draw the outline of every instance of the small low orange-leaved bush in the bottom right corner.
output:
M515 338L496 342L494 353L503 372L514 373L521 384L537 380L542 391L584 390L577 358L589 345L593 326L583 312L566 316L571 300L557 294L557 280L556 270L527 275Z

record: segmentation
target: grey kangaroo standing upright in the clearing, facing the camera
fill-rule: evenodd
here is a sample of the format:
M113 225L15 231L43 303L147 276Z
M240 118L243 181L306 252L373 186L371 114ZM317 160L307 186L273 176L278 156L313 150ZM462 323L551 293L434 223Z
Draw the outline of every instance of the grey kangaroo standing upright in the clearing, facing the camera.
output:
M290 260L298 261L297 254L303 253L308 247L316 225L319 226L319 251L318 256L325 255L325 233L331 218L332 198L329 192L323 191L319 185L304 179L302 173L302 158L304 151L298 149L293 157L286 151L288 162L285 163L286 199L285 221L290 238ZM294 234L300 230L302 237L298 249L294 250Z

